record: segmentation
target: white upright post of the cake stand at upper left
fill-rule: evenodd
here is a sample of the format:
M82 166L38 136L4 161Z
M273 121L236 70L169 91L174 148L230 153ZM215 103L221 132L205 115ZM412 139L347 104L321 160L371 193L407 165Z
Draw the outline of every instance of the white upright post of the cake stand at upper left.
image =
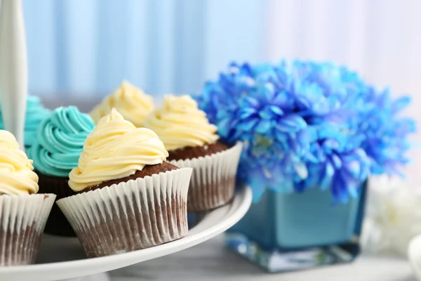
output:
M25 149L27 49L21 0L1 0L0 100L4 129Z

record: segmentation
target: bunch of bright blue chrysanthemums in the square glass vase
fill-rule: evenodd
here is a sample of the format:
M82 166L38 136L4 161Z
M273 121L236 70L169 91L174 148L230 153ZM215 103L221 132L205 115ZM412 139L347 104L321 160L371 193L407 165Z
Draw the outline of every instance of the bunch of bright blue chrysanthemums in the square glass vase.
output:
M239 179L255 200L267 188L320 187L346 202L370 173L407 162L415 128L397 118L408 98L394 101L331 63L232 63L195 98L222 140L244 143Z

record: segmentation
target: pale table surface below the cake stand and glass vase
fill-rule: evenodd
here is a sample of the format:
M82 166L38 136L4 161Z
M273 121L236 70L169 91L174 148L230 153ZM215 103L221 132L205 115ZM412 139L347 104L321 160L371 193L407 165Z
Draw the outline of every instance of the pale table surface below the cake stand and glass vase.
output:
M416 281L405 259L378 256L360 256L346 265L268 274L223 247L221 236L169 256L114 270L111 276L112 281Z

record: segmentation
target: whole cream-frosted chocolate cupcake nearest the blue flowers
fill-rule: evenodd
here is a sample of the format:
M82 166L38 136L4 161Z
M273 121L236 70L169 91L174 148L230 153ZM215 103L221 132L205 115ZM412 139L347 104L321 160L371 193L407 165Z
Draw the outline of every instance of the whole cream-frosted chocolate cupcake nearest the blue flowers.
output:
M209 123L195 100L165 96L163 105L147 117L145 127L159 136L169 162L193 168L189 212L208 211L232 200L241 143L229 147L219 141L217 127Z

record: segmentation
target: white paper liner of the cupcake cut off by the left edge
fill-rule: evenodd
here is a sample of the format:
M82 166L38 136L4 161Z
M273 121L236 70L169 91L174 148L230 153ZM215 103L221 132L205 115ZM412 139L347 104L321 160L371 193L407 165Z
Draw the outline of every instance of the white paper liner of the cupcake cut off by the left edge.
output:
M54 200L53 194L0 195L0 266L34 263Z

